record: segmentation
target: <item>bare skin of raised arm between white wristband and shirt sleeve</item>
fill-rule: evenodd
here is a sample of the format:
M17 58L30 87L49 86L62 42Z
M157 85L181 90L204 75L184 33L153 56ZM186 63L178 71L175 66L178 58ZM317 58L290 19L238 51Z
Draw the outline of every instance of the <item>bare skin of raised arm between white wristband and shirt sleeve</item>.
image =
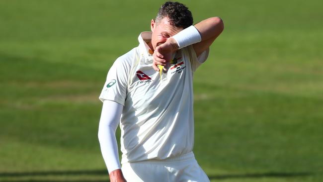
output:
M201 55L205 50L209 49L214 40L222 33L224 29L223 20L220 17L207 18L194 27L201 35L201 42L193 44L196 56Z

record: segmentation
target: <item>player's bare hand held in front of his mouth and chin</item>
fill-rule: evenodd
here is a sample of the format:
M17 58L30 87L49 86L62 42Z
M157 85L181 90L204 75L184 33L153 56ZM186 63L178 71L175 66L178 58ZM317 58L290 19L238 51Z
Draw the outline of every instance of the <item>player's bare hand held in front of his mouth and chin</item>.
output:
M173 54L177 51L178 45L173 38L169 38L165 43L157 46L155 48L153 57L153 68L155 71L159 72L160 69L158 65L164 66L165 69L168 69L169 62L173 58Z

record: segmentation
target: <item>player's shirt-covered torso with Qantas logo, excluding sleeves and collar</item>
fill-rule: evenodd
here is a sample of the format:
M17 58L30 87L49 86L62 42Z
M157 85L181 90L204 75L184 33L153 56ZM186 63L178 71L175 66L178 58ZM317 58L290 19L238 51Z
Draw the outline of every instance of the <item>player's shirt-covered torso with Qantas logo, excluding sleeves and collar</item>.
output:
M153 57L134 60L121 118L121 146L129 161L163 159L193 146L192 69L178 51L167 72L152 68Z

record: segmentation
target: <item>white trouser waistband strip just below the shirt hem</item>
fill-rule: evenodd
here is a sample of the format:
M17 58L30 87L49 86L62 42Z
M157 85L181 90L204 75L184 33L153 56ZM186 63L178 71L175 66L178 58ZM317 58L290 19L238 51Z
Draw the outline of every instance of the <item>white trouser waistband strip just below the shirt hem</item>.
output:
M195 160L193 152L183 154L177 157L170 157L167 159L148 159L146 161L130 162L130 163L155 163L155 164L165 164L165 163L177 163L188 160Z

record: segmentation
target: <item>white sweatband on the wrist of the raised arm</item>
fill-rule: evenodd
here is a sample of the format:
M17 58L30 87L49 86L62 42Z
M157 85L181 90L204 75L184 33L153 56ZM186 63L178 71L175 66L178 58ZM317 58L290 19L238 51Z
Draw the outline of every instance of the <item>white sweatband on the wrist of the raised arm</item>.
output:
M178 49L201 42L202 38L195 26L191 25L172 36L178 44Z

